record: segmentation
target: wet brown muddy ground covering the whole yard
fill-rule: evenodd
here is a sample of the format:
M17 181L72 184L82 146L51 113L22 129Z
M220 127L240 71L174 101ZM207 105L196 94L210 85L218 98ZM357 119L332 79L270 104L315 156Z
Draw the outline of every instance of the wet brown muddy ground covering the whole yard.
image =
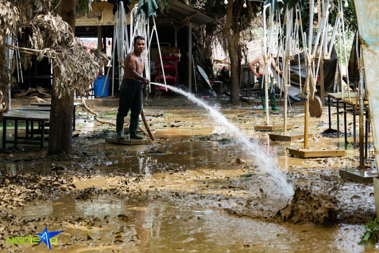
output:
M50 252L44 243L6 241L35 236L46 226L63 230L52 245L54 252L375 250L357 244L365 223L375 217L373 185L339 176L339 169L359 165L350 115L345 157L302 159L290 157L287 148L302 148L303 140L270 141L269 132L254 130L265 121L259 102L235 106L225 97L205 101L272 159L272 167L296 190L294 196L285 196L259 159L246 156L229 129L182 96L144 101L145 111L164 111L149 121L156 141L148 145L106 143L115 128L95 122L80 107L71 154L47 157L46 150L29 146L0 154L0 251ZM87 104L101 119L115 122L117 99ZM270 121L281 123L283 112L271 113ZM292 105L288 123L295 126L289 132L303 131L303 103ZM338 139L335 131L326 131L327 107L321 118L310 118L309 126L311 149L345 149L343 134ZM375 173L369 147L367 171ZM237 164L237 158L246 163Z

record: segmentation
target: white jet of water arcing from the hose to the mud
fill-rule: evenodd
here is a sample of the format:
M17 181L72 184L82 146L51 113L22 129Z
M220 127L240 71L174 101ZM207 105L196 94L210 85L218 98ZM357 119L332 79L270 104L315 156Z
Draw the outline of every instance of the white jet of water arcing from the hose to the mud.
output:
M292 185L290 185L287 182L284 174L276 167L272 159L268 157L264 152L262 152L262 148L257 143L251 142L245 133L243 133L234 124L231 124L225 118L225 116L221 114L217 109L213 108L212 106L207 104L205 101L202 101L196 98L195 95L188 93L184 90L181 90L169 85L159 84L159 83L151 82L151 84L169 88L170 90L177 92L179 94L182 94L186 96L189 100L204 107L207 111L210 112L210 115L216 122L221 124L225 129L228 129L229 131L237 135L236 142L240 144L242 148L242 152L244 152L246 157L255 157L257 159L257 162L260 165L260 168L264 170L266 173L268 173L272 177L272 179L278 184L278 186L282 188L283 190L282 193L284 194L285 197L290 198L293 195Z

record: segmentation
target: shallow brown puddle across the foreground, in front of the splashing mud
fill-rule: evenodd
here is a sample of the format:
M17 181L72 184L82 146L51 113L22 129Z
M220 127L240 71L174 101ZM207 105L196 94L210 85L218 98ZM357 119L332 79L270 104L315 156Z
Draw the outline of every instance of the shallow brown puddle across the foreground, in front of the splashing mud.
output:
M34 202L22 210L35 231L64 230L56 252L355 252L358 225L332 227L278 224L228 215L205 206L149 196L75 200L73 196ZM25 229L28 234L28 229ZM259 232L258 232L259 231ZM29 231L32 232L32 231ZM25 252L51 252L46 245L22 245ZM107 250L108 249L108 250Z

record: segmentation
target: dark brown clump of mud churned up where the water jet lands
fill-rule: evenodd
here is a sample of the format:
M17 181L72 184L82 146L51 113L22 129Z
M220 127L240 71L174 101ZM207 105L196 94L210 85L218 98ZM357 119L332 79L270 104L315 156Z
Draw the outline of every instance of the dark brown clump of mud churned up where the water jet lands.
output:
M289 203L275 218L292 223L333 224L338 221L339 201L332 192L315 194L309 187L297 187Z

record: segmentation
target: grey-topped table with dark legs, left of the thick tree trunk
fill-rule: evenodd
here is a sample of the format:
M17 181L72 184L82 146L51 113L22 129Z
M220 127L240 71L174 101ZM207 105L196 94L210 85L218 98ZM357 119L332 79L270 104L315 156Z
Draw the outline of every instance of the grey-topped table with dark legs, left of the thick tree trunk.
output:
M7 121L14 120L14 139L13 141L7 141ZM13 143L17 146L19 139L29 139L29 133L33 137L33 133L39 133L41 139L39 143L30 142L32 145L40 145L40 148L44 148L45 142L45 123L50 120L49 111L32 111L32 110L13 110L3 114L3 149L6 148L6 143ZM18 137L18 121L26 121L26 136ZM31 129L29 130L29 121L31 121ZM38 122L38 130L33 129L33 122Z

